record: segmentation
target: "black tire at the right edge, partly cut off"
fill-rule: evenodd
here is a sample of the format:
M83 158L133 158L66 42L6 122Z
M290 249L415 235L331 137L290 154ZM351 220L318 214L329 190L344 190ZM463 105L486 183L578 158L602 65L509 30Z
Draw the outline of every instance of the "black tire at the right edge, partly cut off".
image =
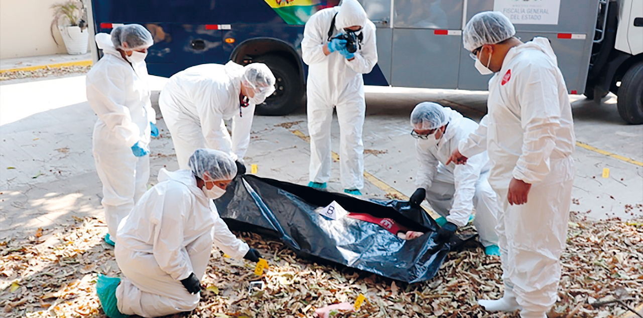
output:
M617 107L619 115L628 123L643 123L643 62L628 69L620 80Z

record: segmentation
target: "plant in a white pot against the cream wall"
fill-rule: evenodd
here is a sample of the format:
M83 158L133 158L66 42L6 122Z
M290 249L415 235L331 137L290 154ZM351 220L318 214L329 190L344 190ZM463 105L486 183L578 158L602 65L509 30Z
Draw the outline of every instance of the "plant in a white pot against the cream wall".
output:
M53 4L53 21L51 21L50 31L53 37L53 27L57 26L65 42L67 53L85 54L87 53L87 41L89 32L87 31L87 10L80 0L68 0L62 3ZM56 45L60 45L53 37Z

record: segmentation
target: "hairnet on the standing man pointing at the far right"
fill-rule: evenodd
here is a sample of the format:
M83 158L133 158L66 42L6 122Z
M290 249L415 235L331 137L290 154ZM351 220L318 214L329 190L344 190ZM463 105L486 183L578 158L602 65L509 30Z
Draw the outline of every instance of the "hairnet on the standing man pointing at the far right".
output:
M484 44L496 44L516 35L514 24L497 11L480 12L467 22L462 31L462 44L473 51Z

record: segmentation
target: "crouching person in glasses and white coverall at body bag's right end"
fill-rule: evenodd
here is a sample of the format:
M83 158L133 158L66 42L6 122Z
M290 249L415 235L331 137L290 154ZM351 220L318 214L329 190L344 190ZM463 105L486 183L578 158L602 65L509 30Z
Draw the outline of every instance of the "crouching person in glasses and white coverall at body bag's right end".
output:
M473 224L487 255L500 255L496 235L498 201L487 178L487 152L474 155L466 164L446 165L460 140L478 128L478 124L459 112L437 103L419 103L411 113L411 135L416 138L415 150L420 163L410 197L411 206L419 207L426 199L431 208L442 215L437 242L449 242L458 227L469 223L475 206Z

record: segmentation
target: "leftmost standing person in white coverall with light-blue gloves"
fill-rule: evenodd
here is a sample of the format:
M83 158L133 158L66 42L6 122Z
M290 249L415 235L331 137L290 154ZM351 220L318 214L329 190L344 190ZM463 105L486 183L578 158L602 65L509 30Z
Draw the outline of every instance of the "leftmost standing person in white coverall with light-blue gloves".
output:
M92 150L103 184L105 242L114 245L118 224L145 193L150 177L150 134L158 136L158 129L145 57L154 40L139 24L117 26L95 39L104 56L87 73L87 101L98 115Z

